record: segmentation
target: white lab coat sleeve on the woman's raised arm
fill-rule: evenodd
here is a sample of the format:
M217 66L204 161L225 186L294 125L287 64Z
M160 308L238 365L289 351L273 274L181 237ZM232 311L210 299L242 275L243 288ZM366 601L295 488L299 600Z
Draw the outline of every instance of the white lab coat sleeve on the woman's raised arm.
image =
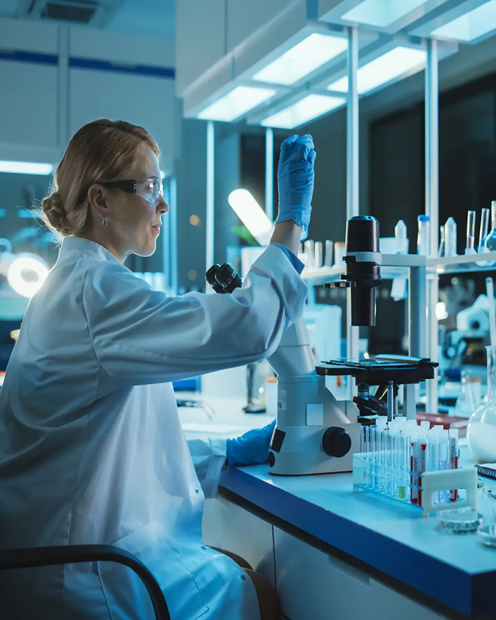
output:
M231 295L168 298L117 261L89 269L88 331L103 370L125 385L163 383L269 357L301 316L307 287L270 245Z

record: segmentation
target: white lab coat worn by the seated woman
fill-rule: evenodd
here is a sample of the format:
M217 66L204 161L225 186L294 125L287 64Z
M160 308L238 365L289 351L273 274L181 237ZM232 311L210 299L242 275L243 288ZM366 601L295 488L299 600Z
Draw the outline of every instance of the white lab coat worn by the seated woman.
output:
M0 392L0 547L115 544L152 570L173 620L258 619L251 580L202 541L225 442L188 446L170 382L271 354L305 296L273 246L233 295L167 298L66 238ZM101 562L0 572L0 617L153 612L130 569Z

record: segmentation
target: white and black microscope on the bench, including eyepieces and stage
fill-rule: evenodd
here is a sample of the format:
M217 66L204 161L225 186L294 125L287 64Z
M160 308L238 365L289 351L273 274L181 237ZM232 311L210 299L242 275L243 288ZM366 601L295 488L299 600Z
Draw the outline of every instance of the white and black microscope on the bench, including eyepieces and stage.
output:
M425 346L425 257L381 255L378 220L357 216L347 223L344 260L347 267L342 280L326 286L350 289L351 324L357 327L375 325L381 265L409 267L411 356L378 356L364 362L331 360L316 366L304 319L288 327L268 360L278 376L277 423L269 453L273 475L352 471L353 454L360 452L362 424L371 424L377 415L392 420L395 394L402 384L404 414L415 419L415 384L435 374L437 364L419 355ZM232 292L241 285L227 264L214 265L206 277L216 292ZM336 400L325 385L326 375L352 376L358 394ZM377 387L374 395L372 386Z

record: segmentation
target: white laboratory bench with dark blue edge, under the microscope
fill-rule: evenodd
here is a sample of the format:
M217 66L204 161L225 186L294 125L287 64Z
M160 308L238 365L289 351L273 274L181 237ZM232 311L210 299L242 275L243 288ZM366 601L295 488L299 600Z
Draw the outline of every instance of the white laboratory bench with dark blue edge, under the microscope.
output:
M211 424L234 436L269 420L242 413L241 404L217 399L201 432ZM186 427L189 435L194 423ZM493 508L480 493L479 512ZM227 468L219 497L206 502L204 539L265 575L289 620L496 618L496 550L475 533L440 531L437 517L422 517L420 508L354 492L351 473L278 477L268 465Z

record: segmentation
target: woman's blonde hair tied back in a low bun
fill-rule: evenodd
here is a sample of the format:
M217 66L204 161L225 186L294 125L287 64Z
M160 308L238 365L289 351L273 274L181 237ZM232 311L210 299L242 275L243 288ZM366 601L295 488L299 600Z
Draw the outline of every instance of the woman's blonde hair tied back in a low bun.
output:
M159 156L158 145L143 127L107 118L83 125L56 169L52 193L41 203L45 224L64 237L83 234L88 189L99 180L122 178L143 146Z

